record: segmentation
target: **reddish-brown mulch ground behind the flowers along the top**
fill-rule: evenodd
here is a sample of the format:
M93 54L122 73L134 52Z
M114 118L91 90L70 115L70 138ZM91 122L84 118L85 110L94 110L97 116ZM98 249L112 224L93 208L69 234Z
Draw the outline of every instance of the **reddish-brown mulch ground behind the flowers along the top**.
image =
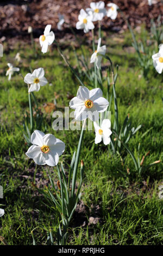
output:
M95 0L94 0L95 1ZM148 5L148 0L114 0L104 1L105 5L114 2L121 8L125 17L129 19L131 26L140 26L146 23L150 27L151 19L156 20L159 15L163 20L163 4L161 0L154 0L155 4ZM42 34L47 24L52 25L56 38L64 38L70 34L68 25L64 25L63 31L57 30L58 13L64 14L65 20L73 28L76 27L80 9L89 7L91 0L10 0L0 2L0 41L15 39L29 39L28 27L33 27L34 37ZM96 1L98 2L98 1ZM115 32L126 29L126 23L118 13L115 21L105 17L102 22L103 29ZM83 34L83 31L77 31Z

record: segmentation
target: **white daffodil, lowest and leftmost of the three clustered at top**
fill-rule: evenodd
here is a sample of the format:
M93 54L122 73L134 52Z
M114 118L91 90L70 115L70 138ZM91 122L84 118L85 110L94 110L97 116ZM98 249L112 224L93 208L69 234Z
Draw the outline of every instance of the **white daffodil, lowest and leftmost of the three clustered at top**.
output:
M90 29L95 28L92 22L92 15L87 14L84 9L80 10L78 20L79 21L76 24L76 28L84 29L84 33L87 33Z

